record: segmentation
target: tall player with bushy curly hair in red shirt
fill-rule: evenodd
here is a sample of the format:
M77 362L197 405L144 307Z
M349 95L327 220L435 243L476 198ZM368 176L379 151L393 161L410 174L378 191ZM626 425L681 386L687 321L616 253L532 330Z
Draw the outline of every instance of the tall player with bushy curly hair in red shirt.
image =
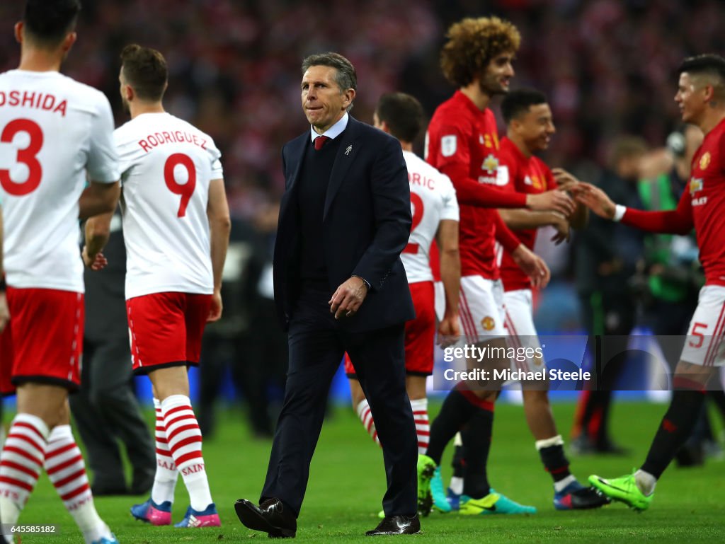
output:
M544 261L508 230L497 208L547 209L565 216L574 209L571 198L563 191L508 192L502 191L497 180L499 140L489 103L494 96L508 92L514 75L512 63L520 43L521 35L515 26L498 17L466 18L453 24L442 49L441 67L458 90L436 109L426 135L426 160L450 177L460 204L463 341L488 353L505 353L507 347L503 289L494 243L501 243L515 264L531 277L534 286L546 285L549 279ZM503 356L482 363L471 359L467 368L481 364L488 371L510 367L509 359ZM500 385L489 382L481 388L470 382L458 382L445 399L431 426L426 455L418 461L418 506L424 513L430 511L431 503L442 511L450 511L439 465L444 448L464 426L467 464L460 490L460 514L536 512L534 507L521 506L489 486L486 459Z

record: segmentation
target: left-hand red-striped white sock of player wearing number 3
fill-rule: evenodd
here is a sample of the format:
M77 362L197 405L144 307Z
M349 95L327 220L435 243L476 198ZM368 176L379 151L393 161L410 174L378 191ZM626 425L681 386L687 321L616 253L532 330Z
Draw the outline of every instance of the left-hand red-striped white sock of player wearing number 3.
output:
M17 414L0 454L0 519L14 524L43 469L48 426L39 417Z

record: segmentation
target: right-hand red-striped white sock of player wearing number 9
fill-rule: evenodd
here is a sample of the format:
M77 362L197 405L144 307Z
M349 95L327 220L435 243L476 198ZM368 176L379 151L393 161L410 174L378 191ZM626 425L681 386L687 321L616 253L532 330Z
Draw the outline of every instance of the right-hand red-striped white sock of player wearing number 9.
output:
M191 508L204 510L213 501L202 457L202 431L191 401L185 395L172 395L161 401L161 413L168 447L188 490Z

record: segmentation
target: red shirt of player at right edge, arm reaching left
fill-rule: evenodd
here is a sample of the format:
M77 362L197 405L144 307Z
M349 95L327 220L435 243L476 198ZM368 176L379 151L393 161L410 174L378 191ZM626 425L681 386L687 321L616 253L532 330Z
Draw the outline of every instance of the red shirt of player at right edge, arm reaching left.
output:
M705 285L725 285L725 120L705 135L695 151L687 185L677 209L627 208L622 222L655 233L687 234L694 226Z

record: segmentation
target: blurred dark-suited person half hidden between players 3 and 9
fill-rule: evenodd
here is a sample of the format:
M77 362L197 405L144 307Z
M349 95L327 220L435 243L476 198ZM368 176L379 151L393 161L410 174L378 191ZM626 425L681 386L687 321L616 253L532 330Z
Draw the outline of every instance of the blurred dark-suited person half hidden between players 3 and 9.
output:
M126 249L121 214L117 210L108 226L102 270L86 268L86 326L83 333L83 367L78 393L71 395L75 428L86 444L88 466L93 471L94 496L147 493L156 472L154 439L133 393L123 282ZM118 440L125 445L133 466L133 480L126 485Z

